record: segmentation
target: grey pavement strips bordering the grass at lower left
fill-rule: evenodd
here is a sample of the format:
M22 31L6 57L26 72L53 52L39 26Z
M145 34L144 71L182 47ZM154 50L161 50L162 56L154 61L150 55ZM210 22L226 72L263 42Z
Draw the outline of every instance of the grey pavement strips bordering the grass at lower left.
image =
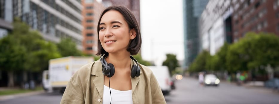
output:
M7 89L8 88L0 88L0 91L7 90ZM23 97L23 96L37 95L37 94L42 94L42 93L45 93L45 91L39 90L39 91L25 92L25 93L19 93L19 94L0 95L0 101L14 99L14 98Z

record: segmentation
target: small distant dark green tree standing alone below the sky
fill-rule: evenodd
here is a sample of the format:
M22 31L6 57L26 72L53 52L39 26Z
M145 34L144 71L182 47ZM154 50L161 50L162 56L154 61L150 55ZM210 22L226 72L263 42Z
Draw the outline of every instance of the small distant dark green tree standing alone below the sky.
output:
M176 55L174 54L166 54L167 59L163 62L162 65L167 66L169 68L170 74L175 71L176 67L179 67L178 60L176 59Z

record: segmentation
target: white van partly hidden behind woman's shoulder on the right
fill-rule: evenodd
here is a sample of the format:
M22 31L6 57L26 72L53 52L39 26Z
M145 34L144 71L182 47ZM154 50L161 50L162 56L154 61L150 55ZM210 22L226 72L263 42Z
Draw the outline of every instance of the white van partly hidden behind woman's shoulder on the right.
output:
M164 95L171 91L171 77L167 66L147 66L155 75Z

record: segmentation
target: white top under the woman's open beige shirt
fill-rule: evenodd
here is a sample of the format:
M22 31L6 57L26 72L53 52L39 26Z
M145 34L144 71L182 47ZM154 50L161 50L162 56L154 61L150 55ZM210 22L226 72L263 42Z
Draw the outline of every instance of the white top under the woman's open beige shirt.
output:
M133 104L132 90L120 91L110 88L112 104ZM103 104L110 104L109 87L104 85Z

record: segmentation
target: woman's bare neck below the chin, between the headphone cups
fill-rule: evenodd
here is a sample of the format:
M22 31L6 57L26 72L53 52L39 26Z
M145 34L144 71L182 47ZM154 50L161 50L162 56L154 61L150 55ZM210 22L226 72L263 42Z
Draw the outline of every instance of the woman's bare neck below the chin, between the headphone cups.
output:
M109 56L106 58L106 62L112 63L117 69L125 69L131 65L130 53L109 53Z

